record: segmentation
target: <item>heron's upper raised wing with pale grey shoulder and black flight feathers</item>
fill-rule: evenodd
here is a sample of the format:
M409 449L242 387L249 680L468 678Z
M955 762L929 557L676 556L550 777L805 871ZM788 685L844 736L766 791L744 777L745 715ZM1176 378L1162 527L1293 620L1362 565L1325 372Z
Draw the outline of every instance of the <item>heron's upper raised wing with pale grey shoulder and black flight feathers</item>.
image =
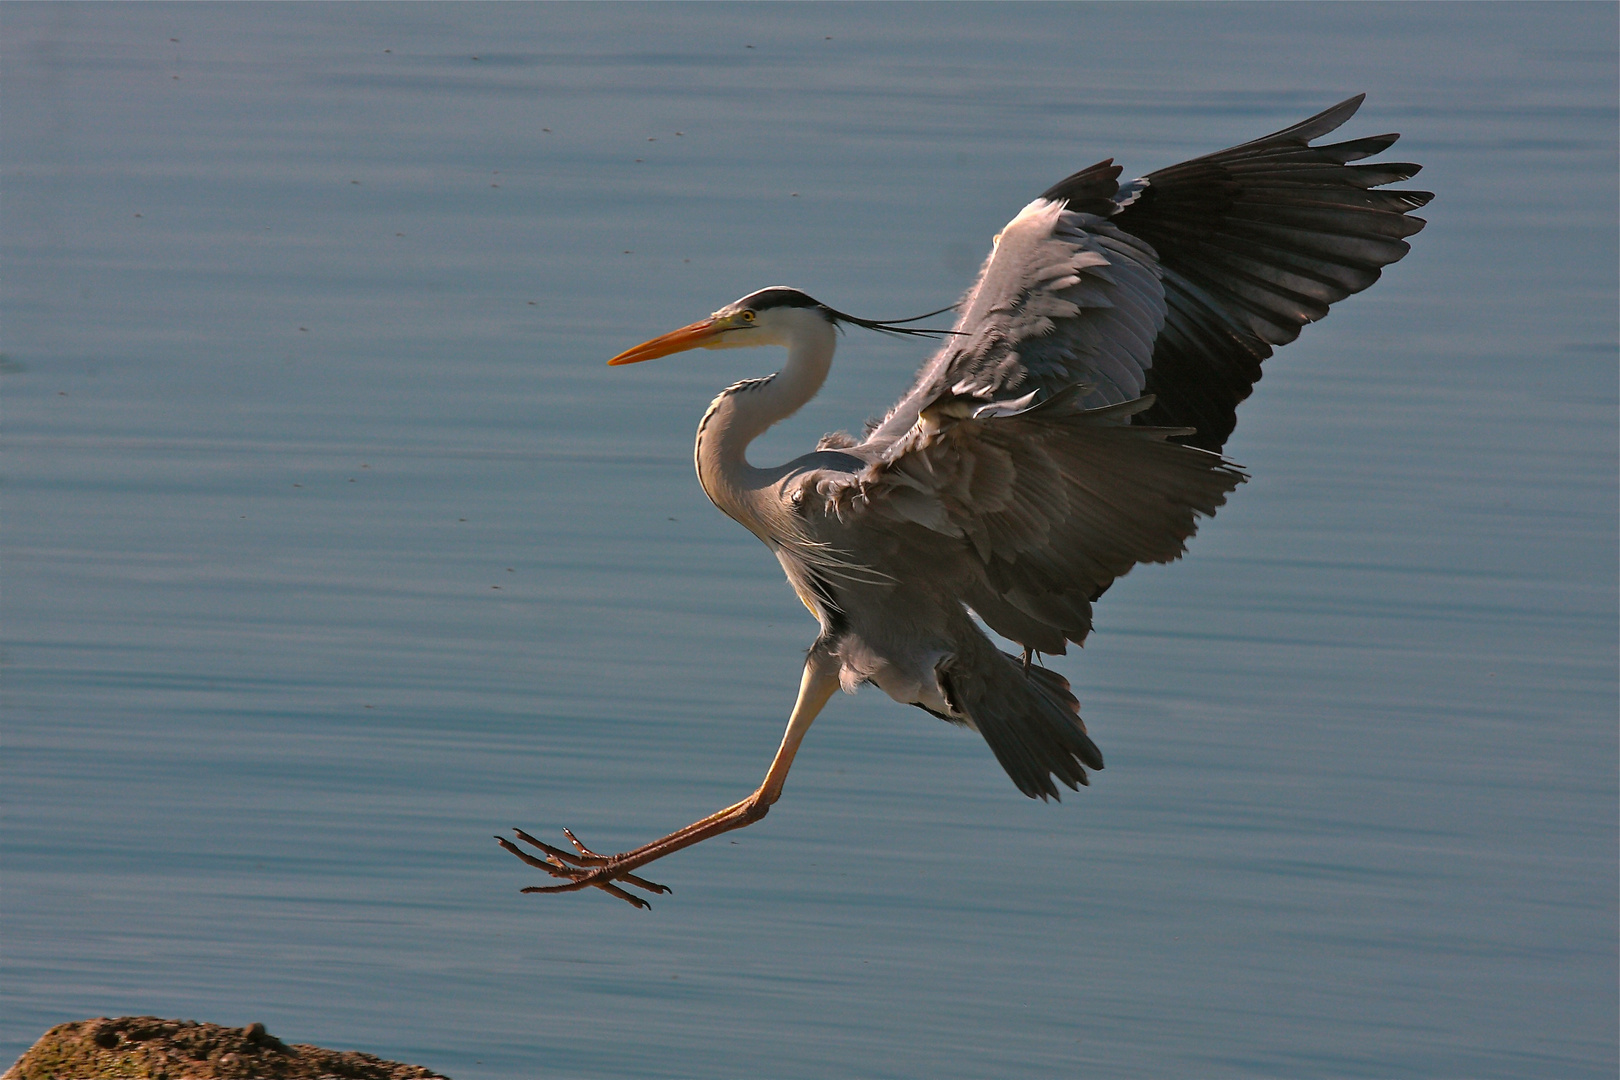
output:
M1311 146L1362 96L1121 188L1111 160L1048 188L996 236L953 337L868 436L881 452L946 398L1089 408L1153 393L1137 423L1220 450L1272 348L1379 279L1424 227L1411 164L1349 165L1382 134Z

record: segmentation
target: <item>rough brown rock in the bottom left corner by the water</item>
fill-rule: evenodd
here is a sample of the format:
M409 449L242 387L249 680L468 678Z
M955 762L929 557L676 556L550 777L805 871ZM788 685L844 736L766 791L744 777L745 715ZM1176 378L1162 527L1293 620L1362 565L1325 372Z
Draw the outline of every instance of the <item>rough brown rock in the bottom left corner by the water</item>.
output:
M447 1080L360 1051L288 1046L262 1023L115 1017L58 1023L0 1080Z

